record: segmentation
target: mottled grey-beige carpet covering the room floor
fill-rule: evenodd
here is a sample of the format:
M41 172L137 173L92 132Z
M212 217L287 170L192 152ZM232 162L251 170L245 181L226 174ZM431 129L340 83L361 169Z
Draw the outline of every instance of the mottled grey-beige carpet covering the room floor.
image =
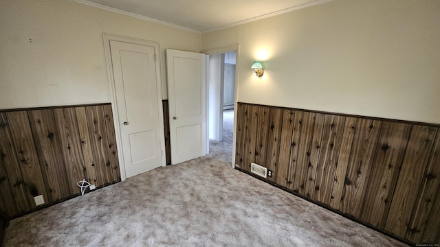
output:
M227 146L12 220L4 244L406 246L232 169Z

